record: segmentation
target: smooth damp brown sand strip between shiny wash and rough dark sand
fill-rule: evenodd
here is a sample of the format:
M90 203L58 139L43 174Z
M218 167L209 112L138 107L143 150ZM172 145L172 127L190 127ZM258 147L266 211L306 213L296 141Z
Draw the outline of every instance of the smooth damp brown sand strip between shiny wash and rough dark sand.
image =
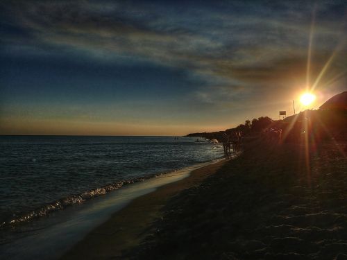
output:
M216 173L226 159L197 168L182 180L169 182L145 195L131 200L83 240L76 243L60 259L96 259L124 256L151 233L153 221L162 216L162 208L180 191L196 187L206 177Z

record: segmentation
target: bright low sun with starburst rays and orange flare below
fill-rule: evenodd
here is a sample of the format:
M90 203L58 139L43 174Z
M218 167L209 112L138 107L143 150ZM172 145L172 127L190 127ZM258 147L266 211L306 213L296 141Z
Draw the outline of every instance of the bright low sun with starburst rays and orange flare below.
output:
M314 56L314 26L316 23L316 6L312 10L312 20L310 26L310 32L308 37L308 48L307 48L307 64L306 64L306 85L305 92L301 94L299 100L302 105L299 114L294 115L291 121L288 122L287 130L284 132L283 139L289 138L289 136L294 135L294 139L299 141L303 146L303 156L305 157L305 168L307 171L307 181L310 182L311 173L311 162L312 150L316 150L319 144L321 144L323 139L329 139L332 141L339 153L346 157L346 153L339 146L338 142L335 140L335 133L330 129L330 121L326 116L324 117L323 112L319 114L318 111L307 110L308 107L314 104L316 100L316 95L314 92L316 89L325 89L339 80L341 77L346 75L346 70L343 71L329 71L334 64L335 59L339 57L339 53L344 49L346 45L346 37L342 36L337 42L337 45L332 49L328 59L322 65L320 71L312 77L312 56ZM328 73L330 72L330 73ZM330 74L328 76L328 74ZM328 79L327 79L328 78ZM322 86L323 80L325 83ZM321 118L321 116L323 116Z

